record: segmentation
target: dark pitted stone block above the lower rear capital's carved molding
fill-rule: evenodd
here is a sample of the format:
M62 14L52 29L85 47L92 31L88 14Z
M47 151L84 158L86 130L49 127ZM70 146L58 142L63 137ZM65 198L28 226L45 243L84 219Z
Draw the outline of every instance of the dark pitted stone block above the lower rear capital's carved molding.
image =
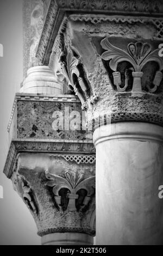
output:
M81 103L76 96L17 94L15 100L12 121L9 124L10 139L69 139L92 142L92 131L86 131ZM60 123L57 126L58 115Z

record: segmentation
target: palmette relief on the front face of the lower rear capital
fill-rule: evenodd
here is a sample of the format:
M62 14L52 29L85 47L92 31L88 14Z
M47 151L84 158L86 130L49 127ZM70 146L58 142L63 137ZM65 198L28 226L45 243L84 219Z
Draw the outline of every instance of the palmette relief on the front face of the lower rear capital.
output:
M77 211L84 209L90 202L91 197L95 194L95 176L84 179L84 174L65 172L65 178L51 174L46 171L46 178L49 180L46 185L53 187L53 194L55 202L59 209L68 211ZM61 190L66 192L61 195ZM84 193L85 191L85 193ZM83 196L81 197L82 194ZM66 208L64 208L63 202L68 199ZM82 200L81 200L82 198ZM79 207L77 209L77 200L79 200Z

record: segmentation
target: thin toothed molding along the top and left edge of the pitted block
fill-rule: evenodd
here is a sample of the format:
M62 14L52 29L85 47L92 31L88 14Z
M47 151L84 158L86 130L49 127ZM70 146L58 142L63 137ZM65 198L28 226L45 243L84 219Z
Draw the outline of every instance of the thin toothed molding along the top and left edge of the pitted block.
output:
M12 118L14 116L16 104L18 100L26 100L26 101L53 101L53 102L80 102L78 96L76 95L37 95L37 94L28 94L28 93L16 93L14 104L12 106L11 115L9 119L9 124L7 130L9 132Z

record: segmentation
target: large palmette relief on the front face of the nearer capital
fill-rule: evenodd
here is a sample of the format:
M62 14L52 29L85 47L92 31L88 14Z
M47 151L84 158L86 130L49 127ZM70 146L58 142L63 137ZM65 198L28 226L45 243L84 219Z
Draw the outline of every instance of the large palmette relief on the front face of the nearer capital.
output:
M131 68L133 81L133 92L142 92L141 77L143 76L142 69L148 62L156 62L159 64L159 70L155 74L153 80L153 88L148 87L150 93L154 93L162 80L163 60L159 57L159 49L152 51L150 44L143 42L131 42L128 45L128 52L121 50L110 44L108 38L101 41L101 45L105 51L102 54L103 60L110 60L109 66L115 71L113 72L114 84L117 87L118 92L124 92L128 87L129 78L126 70L126 80L124 87L121 86L121 74L117 71L117 65L121 62L129 62L133 68Z

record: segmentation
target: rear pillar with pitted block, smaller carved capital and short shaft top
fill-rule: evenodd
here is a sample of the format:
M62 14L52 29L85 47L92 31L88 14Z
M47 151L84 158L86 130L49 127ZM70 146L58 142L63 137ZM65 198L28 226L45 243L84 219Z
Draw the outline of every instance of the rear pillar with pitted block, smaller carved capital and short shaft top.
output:
M65 130L67 109L71 127ZM96 156L92 132L77 129L77 112L82 118L74 95L18 93L12 108L4 173L30 210L42 245L93 244Z

